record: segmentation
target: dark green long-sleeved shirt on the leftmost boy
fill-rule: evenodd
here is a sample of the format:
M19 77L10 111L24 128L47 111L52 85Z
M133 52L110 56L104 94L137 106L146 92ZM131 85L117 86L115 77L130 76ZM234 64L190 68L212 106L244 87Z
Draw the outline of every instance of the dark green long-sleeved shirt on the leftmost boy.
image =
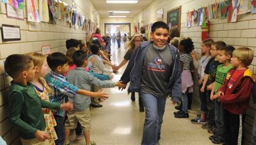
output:
M57 103L40 100L30 82L27 85L11 82L8 98L10 122L20 130L23 139L35 138L37 130L45 130L45 117L41 108L59 109Z

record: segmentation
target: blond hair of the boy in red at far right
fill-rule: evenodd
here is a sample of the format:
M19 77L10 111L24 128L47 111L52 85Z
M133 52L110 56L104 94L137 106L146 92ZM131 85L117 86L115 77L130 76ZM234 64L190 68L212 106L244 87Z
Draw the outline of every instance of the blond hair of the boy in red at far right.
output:
M254 52L248 47L240 47L234 50L233 57L242 61L243 65L249 66L252 63L252 60L254 60Z

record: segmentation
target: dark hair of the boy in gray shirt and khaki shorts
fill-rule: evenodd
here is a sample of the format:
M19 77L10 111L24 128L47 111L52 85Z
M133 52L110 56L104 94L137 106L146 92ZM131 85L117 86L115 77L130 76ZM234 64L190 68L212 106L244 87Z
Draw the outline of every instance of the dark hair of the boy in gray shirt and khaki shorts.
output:
M73 54L73 62L77 67L83 66L83 63L85 63L85 60L87 60L87 53L83 50L77 50Z

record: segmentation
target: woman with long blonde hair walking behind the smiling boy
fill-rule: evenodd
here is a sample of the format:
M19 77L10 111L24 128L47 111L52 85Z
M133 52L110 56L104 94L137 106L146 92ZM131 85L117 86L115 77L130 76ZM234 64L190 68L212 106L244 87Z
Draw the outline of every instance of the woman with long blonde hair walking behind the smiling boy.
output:
M117 70L122 68L122 66L126 65L126 63L130 60L130 58L132 57L132 54L134 53L134 51L139 47L140 43L143 41L142 37L139 34L135 34L132 39L130 40L129 44L127 45L127 47L129 48L129 50L126 52L126 55L124 55L124 60L122 60L122 62L117 66ZM135 101L135 92L132 92L130 99L132 101ZM139 94L139 107L140 107L140 112L144 112L144 106L143 106L143 102L142 102L142 98Z

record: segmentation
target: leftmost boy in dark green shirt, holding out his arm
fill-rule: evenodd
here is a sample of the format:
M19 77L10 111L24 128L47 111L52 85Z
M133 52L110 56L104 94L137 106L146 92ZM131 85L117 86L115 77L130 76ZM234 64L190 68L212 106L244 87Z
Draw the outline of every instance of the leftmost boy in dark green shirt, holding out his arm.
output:
M23 145L49 145L42 108L72 110L72 103L51 103L40 99L32 85L35 67L32 58L27 55L14 54L6 58L4 69L12 77L9 89L8 114L10 122L20 131Z

